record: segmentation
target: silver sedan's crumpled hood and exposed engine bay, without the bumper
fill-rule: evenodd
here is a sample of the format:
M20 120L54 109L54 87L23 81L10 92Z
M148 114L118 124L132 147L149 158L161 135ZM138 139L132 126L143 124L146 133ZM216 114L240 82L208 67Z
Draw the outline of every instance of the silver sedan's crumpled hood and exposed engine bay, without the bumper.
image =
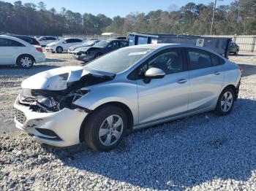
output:
M37 75L35 75L37 76ZM73 103L90 92L87 88L110 81L113 74L93 70L73 70L69 73L50 75L33 83L33 79L23 82L23 89L18 96L18 104L28 106L33 112L58 112L61 109L80 109ZM45 80L47 79L47 80ZM37 85L37 87L35 87ZM34 89L27 88L34 87Z

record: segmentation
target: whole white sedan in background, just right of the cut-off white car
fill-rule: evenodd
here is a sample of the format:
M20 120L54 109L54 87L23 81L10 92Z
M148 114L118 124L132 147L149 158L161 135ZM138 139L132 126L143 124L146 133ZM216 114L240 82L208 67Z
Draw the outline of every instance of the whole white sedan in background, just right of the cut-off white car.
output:
M83 39L78 39L78 38L64 38L60 39L57 42L52 42L50 44L47 44L45 47L45 50L47 52L67 52L69 47L78 45L78 44L83 44L84 40Z

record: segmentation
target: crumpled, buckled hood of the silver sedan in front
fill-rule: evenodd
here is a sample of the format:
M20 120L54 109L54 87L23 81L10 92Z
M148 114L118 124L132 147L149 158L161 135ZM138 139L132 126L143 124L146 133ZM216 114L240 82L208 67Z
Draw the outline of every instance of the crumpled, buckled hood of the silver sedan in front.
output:
M79 81L81 77L87 74L114 76L114 74L107 72L86 69L83 66L66 66L35 74L25 79L21 87L34 90L66 90L70 82Z

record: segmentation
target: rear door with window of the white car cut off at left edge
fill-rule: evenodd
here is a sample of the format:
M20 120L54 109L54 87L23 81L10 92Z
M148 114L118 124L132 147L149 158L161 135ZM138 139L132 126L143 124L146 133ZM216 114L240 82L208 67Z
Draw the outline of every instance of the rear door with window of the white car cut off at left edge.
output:
M20 42L0 37L0 64L15 64L22 47Z

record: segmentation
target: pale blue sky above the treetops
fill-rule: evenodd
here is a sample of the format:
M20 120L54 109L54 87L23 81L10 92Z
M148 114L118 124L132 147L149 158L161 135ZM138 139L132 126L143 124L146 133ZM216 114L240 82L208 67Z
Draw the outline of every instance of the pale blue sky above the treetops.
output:
M10 3L13 3L17 0L3 0ZM22 0L24 3L34 3L37 4L42 0ZM191 0L192 1L192 0ZM44 0L47 5L47 9L54 7L57 11L61 7L65 7L72 12L80 12L81 14L88 12L93 15L104 14L108 17L113 18L116 15L124 17L130 12L145 12L148 13L152 10L162 9L168 10L168 7L182 7L189 0ZM230 4L233 0L217 0L217 6L222 4ZM214 0L194 0L195 4L209 4L214 2ZM175 6L173 6L175 5Z

